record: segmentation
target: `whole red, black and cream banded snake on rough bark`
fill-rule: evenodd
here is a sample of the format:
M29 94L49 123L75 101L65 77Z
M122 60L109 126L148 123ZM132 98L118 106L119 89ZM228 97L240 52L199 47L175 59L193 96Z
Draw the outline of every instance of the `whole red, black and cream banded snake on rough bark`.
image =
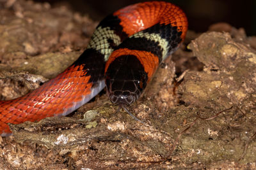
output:
M127 111L187 30L184 11L164 1L131 4L111 13L65 71L25 96L0 101L1 136L12 134L9 123L68 115L105 87L111 103Z

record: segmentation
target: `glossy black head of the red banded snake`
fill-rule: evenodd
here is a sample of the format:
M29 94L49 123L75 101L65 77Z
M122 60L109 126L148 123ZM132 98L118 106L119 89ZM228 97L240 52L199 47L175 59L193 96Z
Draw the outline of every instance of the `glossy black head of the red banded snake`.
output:
M134 103L145 89L147 80L147 73L135 56L117 57L106 71L106 86L110 101L119 105Z

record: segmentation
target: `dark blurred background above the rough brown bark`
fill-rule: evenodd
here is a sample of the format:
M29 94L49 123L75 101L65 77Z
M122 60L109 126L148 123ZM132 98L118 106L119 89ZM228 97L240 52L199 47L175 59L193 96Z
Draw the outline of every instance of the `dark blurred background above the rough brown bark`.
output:
M53 7L65 5L74 11L88 14L93 20L102 20L109 13L128 4L143 2L138 0L35 0L48 2ZM186 13L189 29L196 32L207 31L209 25L227 22L244 27L248 36L256 35L256 0L167 0L177 4Z

